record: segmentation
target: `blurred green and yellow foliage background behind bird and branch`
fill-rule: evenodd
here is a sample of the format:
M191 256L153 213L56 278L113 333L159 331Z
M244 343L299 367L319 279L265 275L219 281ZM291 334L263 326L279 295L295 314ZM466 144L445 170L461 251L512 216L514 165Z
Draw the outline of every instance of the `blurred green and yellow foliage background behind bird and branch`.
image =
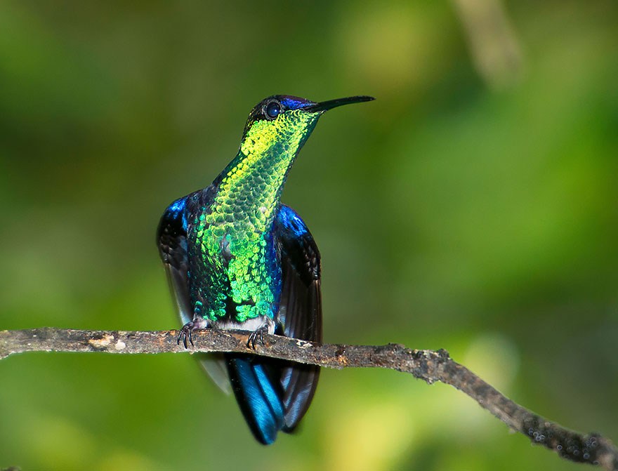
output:
M272 93L322 117L284 191L324 340L445 348L618 441L618 4L0 2L0 329L172 329L170 201ZM263 447L186 354L0 362L0 467L577 470L452 387L323 371Z

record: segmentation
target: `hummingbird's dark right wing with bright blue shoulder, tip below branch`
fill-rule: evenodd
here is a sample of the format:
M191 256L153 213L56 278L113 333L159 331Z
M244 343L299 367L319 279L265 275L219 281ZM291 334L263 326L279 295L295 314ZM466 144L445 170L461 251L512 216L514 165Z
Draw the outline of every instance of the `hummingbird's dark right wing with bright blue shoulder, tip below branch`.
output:
M320 293L320 252L303 220L289 206L280 205L274 237L282 267L282 291L277 324L284 336L322 341L322 297ZM281 370L284 391L284 431L298 425L307 411L320 368L289 364Z

